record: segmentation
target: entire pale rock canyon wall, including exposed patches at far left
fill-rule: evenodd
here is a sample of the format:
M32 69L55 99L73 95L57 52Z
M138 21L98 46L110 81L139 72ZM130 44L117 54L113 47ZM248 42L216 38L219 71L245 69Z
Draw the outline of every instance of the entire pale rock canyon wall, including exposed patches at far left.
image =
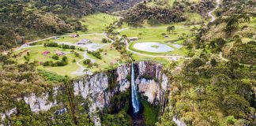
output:
M140 94L145 96L152 105L160 106L160 112L163 112L168 101L169 79L164 73L162 65L152 61L139 61L134 63L134 69ZM95 125L100 125L100 118L96 113L111 105L111 97L119 92L130 90L130 72L131 64L126 64L120 65L117 69L98 72L92 76L82 76L73 80L73 95L75 97L81 96L89 101L89 114ZM47 111L54 106L63 106L62 102L56 101L60 90L59 87L55 87L53 93L51 93L51 98L49 93L46 92L40 96L36 94L28 95L23 100L34 113ZM66 113L66 111L68 110L63 108L55 113L61 114ZM2 120L12 113L17 113L16 108L0 113Z

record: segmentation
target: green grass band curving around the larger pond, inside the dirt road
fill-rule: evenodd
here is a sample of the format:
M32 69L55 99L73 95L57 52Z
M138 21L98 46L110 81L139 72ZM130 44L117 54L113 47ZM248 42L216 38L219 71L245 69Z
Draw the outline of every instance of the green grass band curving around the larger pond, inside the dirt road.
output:
M166 52L166 53L152 53L152 52L147 52L147 51L143 51L143 50L137 50L134 48L135 43L140 43L140 42L130 43L130 45L129 45L130 50L134 50L134 51L142 53L142 54L150 54L150 55L186 55L187 54L187 50L184 47L178 49L175 46L172 46L171 44L168 44L168 43L157 42L157 43L163 43L168 46L171 46L171 48L174 49L174 50L172 50L170 52ZM144 43L144 42L142 42L142 43Z

